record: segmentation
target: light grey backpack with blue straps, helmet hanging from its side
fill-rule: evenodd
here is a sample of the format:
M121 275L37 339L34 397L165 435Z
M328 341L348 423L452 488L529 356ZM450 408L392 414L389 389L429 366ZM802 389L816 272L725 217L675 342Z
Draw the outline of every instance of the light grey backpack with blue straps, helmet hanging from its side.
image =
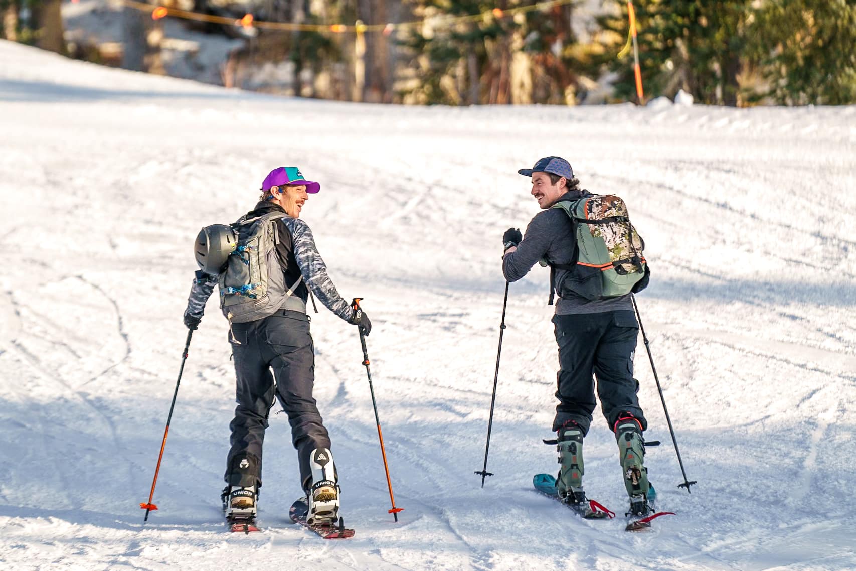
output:
M235 251L220 272L220 309L229 323L266 318L282 304L302 281L285 288L285 273L276 257L279 243L276 221L288 216L270 212L260 217L241 217L233 223Z

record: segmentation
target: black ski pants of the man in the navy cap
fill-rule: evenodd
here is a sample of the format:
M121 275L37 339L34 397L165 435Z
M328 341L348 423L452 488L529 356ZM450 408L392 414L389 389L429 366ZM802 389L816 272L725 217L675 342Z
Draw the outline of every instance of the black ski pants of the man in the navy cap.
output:
M559 405L553 430L574 421L584 435L588 433L591 413L597 406L594 378L609 428L614 427L621 413L631 413L645 430L648 424L636 396L639 381L633 378L633 354L639 334L633 312L556 315L553 324L559 344Z

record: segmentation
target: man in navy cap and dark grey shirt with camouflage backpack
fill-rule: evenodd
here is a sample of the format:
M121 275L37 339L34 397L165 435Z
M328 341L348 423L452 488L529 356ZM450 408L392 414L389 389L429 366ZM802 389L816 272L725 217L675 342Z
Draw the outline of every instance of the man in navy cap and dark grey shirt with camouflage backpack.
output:
M556 479L557 492L578 513L591 516L582 485L582 443L591 425L591 413L597 406L593 381L596 377L603 416L615 432L621 453L632 444L638 456L629 460L627 454L621 456L622 477L633 479L633 485L627 485L628 493L631 489L643 491L642 497L630 493L631 513L646 515L651 510L647 501L647 469L642 465L645 454L642 431L647 428L647 421L636 396L639 383L633 378L639 325L630 294L589 299L576 291L582 274L574 271L578 259L574 226L562 208L552 206L591 193L580 188L580 180L574 176L568 161L544 157L532 169L518 172L532 178L531 193L542 211L532 218L526 235L509 228L502 236L505 247L502 273L509 282L514 282L542 262L550 266L550 303L554 293L558 295L552 319L559 346L556 390L559 404L553 420L562 463Z

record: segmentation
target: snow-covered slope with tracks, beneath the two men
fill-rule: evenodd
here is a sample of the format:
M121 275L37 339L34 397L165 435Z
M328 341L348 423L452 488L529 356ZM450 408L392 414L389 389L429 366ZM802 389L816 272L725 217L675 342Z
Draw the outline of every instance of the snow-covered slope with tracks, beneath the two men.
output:
M856 568L856 108L395 108L267 98L0 42L0 568ZM620 193L645 237L639 306L693 493L639 343L663 441L656 531L584 522L531 491L556 469L547 272L511 286L481 469L504 282L501 236L537 205L516 170L559 154ZM253 205L268 170L322 183L303 217L364 297L398 524L354 327L312 315L317 397L357 536L287 523L299 494L272 415L262 534L219 513L234 407L208 307L154 501L200 226ZM597 418L586 488L625 509Z

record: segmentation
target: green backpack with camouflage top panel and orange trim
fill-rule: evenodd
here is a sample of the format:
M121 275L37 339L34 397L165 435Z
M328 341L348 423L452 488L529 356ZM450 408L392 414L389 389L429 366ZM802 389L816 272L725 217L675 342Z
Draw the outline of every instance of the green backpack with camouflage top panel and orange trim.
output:
M586 299L618 297L645 288L647 265L642 251L645 241L627 217L624 201L612 194L587 194L562 200L560 208L574 223L577 259L571 264L550 265L550 303L556 288L555 270L570 271L560 284Z

